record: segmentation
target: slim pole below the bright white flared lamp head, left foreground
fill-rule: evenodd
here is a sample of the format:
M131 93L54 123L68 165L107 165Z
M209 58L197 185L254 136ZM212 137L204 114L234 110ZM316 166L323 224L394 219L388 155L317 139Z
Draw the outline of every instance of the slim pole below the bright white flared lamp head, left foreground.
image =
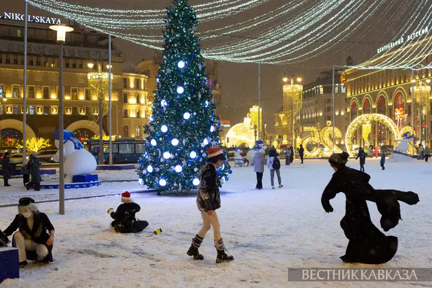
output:
M60 151L60 215L64 215L64 148L63 148L63 44L60 43L60 72L58 84L58 149Z

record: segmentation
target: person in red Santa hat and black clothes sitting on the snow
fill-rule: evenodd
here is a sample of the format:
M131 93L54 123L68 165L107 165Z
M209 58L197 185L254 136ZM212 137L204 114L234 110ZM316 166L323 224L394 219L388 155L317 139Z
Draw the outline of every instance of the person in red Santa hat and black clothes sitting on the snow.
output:
M123 204L120 204L117 211L114 211L113 208L108 209L108 214L114 219L111 226L116 232L138 233L149 226L149 222L135 218L135 214L141 210L141 207L132 201L128 191L121 194L121 202Z

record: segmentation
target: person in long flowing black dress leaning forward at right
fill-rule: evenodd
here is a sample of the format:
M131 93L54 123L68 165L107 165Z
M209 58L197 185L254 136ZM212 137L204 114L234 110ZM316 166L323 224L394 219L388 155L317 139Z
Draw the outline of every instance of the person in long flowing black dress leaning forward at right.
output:
M346 253L341 260L347 263L381 264L390 261L398 248L398 239L385 236L370 219L366 200L376 203L381 214L381 228L385 232L398 225L399 202L413 205L419 202L418 195L411 191L378 190L370 184L370 176L361 171L346 167L348 153L332 154L328 162L335 170L333 177L321 197L326 213L333 212L330 200L342 192L346 196L346 213L341 220L341 228L348 238Z

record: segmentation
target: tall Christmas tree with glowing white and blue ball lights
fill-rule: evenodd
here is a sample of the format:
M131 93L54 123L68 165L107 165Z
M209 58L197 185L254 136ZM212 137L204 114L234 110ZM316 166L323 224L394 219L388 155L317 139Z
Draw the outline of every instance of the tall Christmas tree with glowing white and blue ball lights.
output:
M152 115L145 127L145 153L139 160L140 182L160 191L197 189L206 149L219 143L216 104L207 86L197 16L187 0L167 8L165 51L154 91ZM231 173L228 163L217 170L219 185Z

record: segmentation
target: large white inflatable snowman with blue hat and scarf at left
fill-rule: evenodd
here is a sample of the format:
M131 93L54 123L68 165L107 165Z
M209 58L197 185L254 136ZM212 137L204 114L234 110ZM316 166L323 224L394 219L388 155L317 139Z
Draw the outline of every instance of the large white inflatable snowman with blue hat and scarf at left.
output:
M56 130L56 147L59 147L59 132ZM84 149L82 143L73 138L73 132L63 130L64 173L66 182L72 182L75 175L88 175L96 170L95 157ZM55 162L60 161L60 153L53 156Z

